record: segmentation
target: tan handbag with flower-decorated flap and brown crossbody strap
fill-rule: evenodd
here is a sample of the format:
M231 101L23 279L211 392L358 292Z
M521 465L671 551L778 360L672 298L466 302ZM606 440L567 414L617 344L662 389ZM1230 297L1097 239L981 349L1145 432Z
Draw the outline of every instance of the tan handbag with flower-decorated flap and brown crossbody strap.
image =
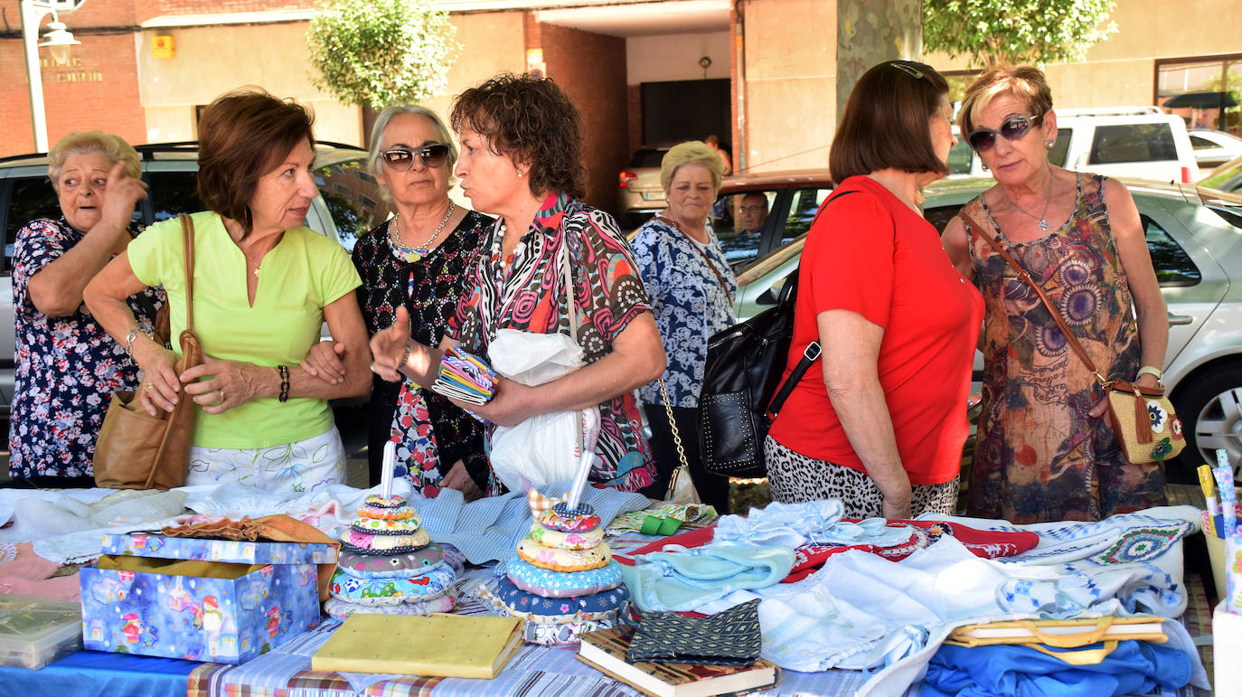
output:
M1145 465L1176 457L1186 447L1186 439L1181 432L1181 421L1174 411L1172 403L1165 396L1164 389L1140 388L1122 379L1109 380L1100 375L1095 364L1087 357L1087 350L1078 343L1074 330L1069 328L1064 317L1061 316L1061 311L1052 304L1052 299L1035 282L1035 278L1018 265L1017 260L1000 242L985 232L984 226L965 212L959 215L972 230L977 230L992 250L1017 271L1017 277L1030 286L1035 294L1040 296L1043 306L1048 308L1052 321L1057 323L1057 328L1066 337L1066 343L1095 376L1095 381L1104 388L1104 394L1108 395L1108 421L1125 458L1134 465Z

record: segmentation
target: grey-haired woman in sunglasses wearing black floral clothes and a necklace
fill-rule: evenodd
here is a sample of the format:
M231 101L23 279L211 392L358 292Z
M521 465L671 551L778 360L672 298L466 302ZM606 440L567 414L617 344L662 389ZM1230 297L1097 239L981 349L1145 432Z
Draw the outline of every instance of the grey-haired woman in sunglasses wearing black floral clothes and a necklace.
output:
M371 132L370 170L396 215L354 246L363 277L359 303L366 330L375 334L410 313L417 342L440 340L457 311L465 271L492 219L448 200L457 147L435 112L395 104L380 113ZM371 483L380 481L384 444L395 441L395 476L436 496L456 488L467 499L488 485L483 425L431 390L402 379L371 380L368 456Z

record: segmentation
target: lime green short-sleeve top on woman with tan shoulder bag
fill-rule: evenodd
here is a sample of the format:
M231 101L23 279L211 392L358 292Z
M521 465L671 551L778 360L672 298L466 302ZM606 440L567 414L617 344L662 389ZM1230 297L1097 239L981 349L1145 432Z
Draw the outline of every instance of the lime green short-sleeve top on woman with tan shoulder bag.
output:
M286 230L260 266L255 304L246 292L246 257L215 212L194 220L194 332L202 353L256 365L302 363L319 342L323 308L361 285L349 255L309 227ZM178 219L156 222L130 242L129 266L168 293L173 343L185 329L184 244ZM180 347L173 347L180 353ZM324 399L251 400L224 414L194 415L194 445L258 449L296 442L333 425Z

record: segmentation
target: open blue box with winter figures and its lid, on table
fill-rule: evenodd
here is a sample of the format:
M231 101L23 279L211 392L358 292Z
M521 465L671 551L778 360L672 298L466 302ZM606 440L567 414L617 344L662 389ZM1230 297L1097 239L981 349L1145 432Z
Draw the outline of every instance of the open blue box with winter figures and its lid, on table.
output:
M87 649L241 663L319 624L330 544L103 535L81 570Z

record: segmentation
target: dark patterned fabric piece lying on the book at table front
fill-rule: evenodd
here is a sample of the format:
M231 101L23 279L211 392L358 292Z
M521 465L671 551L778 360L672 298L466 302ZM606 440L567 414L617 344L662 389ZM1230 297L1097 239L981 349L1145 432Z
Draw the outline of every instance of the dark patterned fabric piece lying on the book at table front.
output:
M763 644L755 599L709 617L651 613L638 622L626 660L749 666Z

